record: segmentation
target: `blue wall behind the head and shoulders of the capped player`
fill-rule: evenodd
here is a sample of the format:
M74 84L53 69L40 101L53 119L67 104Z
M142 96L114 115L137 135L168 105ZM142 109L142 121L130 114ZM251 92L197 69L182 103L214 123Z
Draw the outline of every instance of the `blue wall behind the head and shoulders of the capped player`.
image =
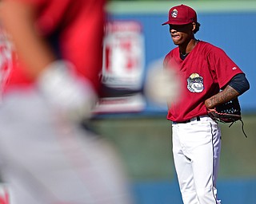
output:
M165 57L174 48L170 39L166 14L112 14L117 20L141 22L146 46L146 68L151 61ZM246 73L250 90L239 97L242 112L256 111L256 11L255 12L198 12L201 27L196 37L224 49L233 61Z

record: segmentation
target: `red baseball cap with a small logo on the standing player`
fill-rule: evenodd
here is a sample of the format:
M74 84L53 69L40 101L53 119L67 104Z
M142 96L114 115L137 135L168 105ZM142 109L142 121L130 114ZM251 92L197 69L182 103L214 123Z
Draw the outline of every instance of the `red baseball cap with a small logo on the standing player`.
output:
M162 24L185 25L190 22L198 22L197 13L190 7L184 4L174 6L169 10L169 21Z

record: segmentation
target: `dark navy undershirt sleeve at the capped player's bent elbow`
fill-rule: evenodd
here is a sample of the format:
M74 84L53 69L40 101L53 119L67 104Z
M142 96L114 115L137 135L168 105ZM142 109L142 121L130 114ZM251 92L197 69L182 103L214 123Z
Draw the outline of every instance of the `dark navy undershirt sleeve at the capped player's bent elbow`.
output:
M249 81L244 73L235 75L229 83L230 87L234 88L240 95L250 88Z

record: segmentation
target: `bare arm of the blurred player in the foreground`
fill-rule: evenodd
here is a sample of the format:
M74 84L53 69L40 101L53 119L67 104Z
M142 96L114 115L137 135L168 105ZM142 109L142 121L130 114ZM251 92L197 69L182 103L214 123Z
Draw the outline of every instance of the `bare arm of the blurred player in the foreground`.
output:
M22 1L3 0L0 15L19 59L26 64L26 73L31 78L38 77L55 57L35 27L34 6Z

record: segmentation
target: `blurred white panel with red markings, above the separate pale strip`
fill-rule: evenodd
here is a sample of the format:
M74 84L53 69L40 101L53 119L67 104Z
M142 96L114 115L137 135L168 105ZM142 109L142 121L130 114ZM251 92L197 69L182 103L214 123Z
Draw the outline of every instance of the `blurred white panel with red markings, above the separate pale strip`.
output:
M115 88L138 88L144 71L144 37L138 22L109 22L103 49L102 82Z

